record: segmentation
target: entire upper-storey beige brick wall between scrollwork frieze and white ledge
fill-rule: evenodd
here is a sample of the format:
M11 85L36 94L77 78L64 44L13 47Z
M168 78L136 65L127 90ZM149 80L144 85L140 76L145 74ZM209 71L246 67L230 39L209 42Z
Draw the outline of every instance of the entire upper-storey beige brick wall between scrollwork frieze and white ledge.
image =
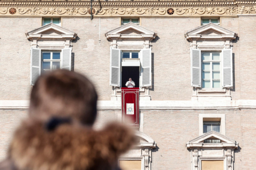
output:
M200 18L141 18L141 26L158 33L152 41L152 100L191 100L190 43L184 34L200 26ZM222 17L221 26L238 33L233 42L233 100L255 99L251 84L255 81L253 64L256 38L254 16ZM101 22L101 23L100 23ZM156 23L157 24L152 24ZM27 100L30 92L30 41L25 33L41 26L41 18L0 18L1 100ZM101 24L101 26L100 26ZM99 100L110 100L110 41L105 33L120 26L120 18L62 18L62 26L78 35L73 41L75 71L86 74L98 91ZM100 37L99 37L100 26ZM242 31L240 31L242 30ZM101 40L100 43L98 40ZM164 93L163 93L164 92ZM6 95L8 93L8 95Z

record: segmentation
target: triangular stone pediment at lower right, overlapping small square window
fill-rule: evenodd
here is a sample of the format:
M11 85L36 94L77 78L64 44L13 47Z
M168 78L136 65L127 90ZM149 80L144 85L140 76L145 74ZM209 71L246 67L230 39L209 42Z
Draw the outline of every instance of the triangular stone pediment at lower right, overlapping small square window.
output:
M219 143L204 143L204 140L220 140ZM222 135L218 132L215 131L210 131L208 133L205 133L202 136L199 136L193 140L190 140L187 142L187 148L188 149L193 149L193 148L238 148L238 143L229 138L226 137L225 135Z

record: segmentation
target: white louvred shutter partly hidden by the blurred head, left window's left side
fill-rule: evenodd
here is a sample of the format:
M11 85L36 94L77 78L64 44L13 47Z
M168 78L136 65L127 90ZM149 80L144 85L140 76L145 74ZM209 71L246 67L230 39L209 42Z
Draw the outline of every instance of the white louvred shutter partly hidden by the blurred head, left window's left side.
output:
M41 70L41 49L31 48L31 77L30 84L34 85Z

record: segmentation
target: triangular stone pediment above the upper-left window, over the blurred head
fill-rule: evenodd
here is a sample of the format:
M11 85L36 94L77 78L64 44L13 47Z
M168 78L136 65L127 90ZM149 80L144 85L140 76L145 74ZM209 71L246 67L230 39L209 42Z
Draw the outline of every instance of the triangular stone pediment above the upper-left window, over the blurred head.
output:
M32 40L34 38L38 39L75 39L77 34L75 32L72 32L66 28L63 28L61 26L55 25L53 23L41 26L39 28L36 28L28 33L26 33L26 36L28 39Z

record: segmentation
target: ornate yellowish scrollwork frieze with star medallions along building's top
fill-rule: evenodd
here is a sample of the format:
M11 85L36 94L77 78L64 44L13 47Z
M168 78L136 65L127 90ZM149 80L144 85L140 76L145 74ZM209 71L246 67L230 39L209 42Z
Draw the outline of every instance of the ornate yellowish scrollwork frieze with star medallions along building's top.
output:
M2 2L3 3L3 2ZM25 3L25 2L24 2ZM38 5L26 5L22 7L22 3L16 4L1 4L0 16L90 16L90 7L84 3L38 3ZM75 5L77 4L77 5ZM6 7L5 7L6 6ZM64 7L65 6L65 7ZM67 7L68 6L68 7ZM87 6L87 7L86 7ZM96 6L96 7L95 7ZM254 6L232 6L232 7L174 7L168 5L163 7L156 5L148 7L144 3L143 7L102 7L93 5L94 17L102 16L237 16L241 14L256 14L256 5ZM170 14L170 9L173 11ZM169 13L169 14L168 14Z

